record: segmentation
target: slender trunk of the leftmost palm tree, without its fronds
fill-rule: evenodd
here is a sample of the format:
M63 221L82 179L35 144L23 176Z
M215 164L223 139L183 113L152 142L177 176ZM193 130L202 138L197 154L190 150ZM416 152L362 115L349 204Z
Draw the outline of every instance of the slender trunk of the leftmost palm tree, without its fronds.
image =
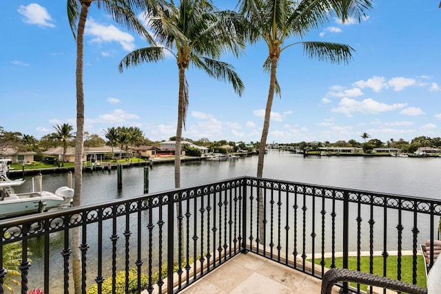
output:
M75 140L75 196L74 207L81 205L81 190L83 187L83 136L84 136L84 91L83 91L83 39L85 21L88 17L90 3L81 3L81 13L76 35L76 140ZM81 293L81 261L80 261L80 232L76 227L72 232L72 275L74 278L74 293Z

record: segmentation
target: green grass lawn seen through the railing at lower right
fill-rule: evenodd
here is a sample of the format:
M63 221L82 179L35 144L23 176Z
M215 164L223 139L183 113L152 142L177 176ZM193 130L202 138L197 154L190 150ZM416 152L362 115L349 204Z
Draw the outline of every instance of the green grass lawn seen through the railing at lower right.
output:
M397 256L389 256L387 258L387 277L392 279L397 278ZM320 260L315 260L316 264L320 264ZM331 258L325 258L325 266L329 267L332 260ZM357 258L356 256L349 257L349 269L356 270L357 269ZM422 257L419 256L417 259L417 277L416 284L418 286L426 287L426 273L424 271L424 262ZM412 267L413 267L413 256L412 255L404 255L401 258L401 280L403 282L407 282L412 284ZM336 266L338 268L343 267L343 259L336 258ZM362 256L360 258L360 271L369 273L369 256ZM374 256L373 258L373 273L376 275L383 275L383 257L382 256ZM353 284L352 286L356 286ZM362 291L367 290L366 285L360 284L360 289Z

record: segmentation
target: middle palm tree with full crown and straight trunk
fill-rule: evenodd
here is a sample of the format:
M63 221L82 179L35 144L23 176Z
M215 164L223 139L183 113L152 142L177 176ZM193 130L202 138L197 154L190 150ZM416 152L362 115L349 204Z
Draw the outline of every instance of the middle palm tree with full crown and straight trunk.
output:
M157 6L149 15L147 26L152 29L158 42L163 45L134 50L119 63L119 70L143 62L156 62L165 58L168 51L176 59L179 74L178 121L176 125L176 145L174 160L174 186L181 187L181 140L185 128L185 115L189 103L188 83L185 70L194 65L208 76L228 81L239 95L243 92L243 82L234 67L219 61L225 51L236 56L243 48L234 30L234 12L220 12L209 0L181 0L178 6L170 1L170 6Z

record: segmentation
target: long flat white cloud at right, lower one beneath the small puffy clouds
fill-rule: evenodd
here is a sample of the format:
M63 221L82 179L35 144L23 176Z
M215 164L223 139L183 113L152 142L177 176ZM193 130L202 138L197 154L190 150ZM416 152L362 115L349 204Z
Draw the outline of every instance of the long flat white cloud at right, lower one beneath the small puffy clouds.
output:
M407 103L394 103L388 105L385 103L380 103L373 100L372 98L367 98L363 101L357 101L350 98L342 98L337 108L331 109L331 112L341 112L351 116L353 112L363 112L369 114L379 114L380 112L389 112L391 110L400 109L406 107Z

